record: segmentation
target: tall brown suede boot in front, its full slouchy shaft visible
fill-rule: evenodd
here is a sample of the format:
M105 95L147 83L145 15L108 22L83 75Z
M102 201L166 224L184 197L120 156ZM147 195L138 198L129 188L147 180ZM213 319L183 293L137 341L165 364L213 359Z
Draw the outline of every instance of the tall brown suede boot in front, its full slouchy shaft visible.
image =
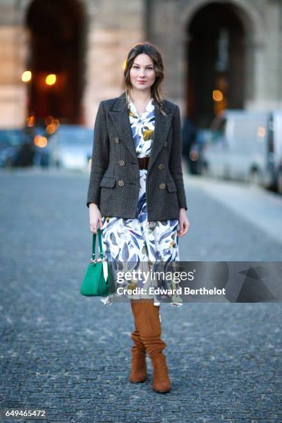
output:
M166 357L162 353L167 344L160 339L162 332L159 315L160 306L154 306L153 300L131 300L131 308L140 338L151 358L153 389L159 393L169 392L171 390L169 369L167 368Z

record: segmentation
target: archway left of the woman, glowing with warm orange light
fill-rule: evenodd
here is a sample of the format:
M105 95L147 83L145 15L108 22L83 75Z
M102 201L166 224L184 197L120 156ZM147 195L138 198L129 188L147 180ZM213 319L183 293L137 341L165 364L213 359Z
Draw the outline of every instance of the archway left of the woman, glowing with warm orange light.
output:
M50 115L61 122L81 123L84 77L81 3L77 0L34 0L26 23L31 36L29 115L34 115L37 123Z

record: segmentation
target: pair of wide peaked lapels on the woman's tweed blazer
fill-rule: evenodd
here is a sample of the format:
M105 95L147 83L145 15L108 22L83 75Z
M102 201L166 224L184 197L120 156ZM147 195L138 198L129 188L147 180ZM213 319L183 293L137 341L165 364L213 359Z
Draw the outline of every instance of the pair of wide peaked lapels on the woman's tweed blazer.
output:
M158 104L154 101L155 104L155 130L153 132L153 140L151 145L151 152L148 164L148 171L151 169L151 166L156 160L160 149L162 148L162 144L167 139L167 134L169 133L169 129L171 126L172 120L172 113L169 113L165 107L164 110L166 111L167 115L164 116L160 113L160 108ZM118 100L115 102L113 106L113 110L109 111L111 119L113 120L113 124L115 125L115 129L118 131L120 138L126 147L129 149L133 157L137 160L137 154L135 150L133 135L131 131L131 125L129 122L129 115L128 110L126 108L126 97L125 93L122 93Z

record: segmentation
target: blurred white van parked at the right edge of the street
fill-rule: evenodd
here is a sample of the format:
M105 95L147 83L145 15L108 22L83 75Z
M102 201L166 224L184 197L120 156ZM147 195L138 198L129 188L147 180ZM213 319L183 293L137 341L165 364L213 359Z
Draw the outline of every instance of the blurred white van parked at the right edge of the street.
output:
M280 122L277 112L223 111L206 134L205 173L275 189L281 148L276 126Z

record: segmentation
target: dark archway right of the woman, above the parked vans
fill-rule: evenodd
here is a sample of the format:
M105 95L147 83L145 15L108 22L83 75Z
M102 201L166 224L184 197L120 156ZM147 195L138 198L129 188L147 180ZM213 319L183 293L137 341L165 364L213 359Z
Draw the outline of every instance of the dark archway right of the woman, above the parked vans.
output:
M242 109L245 100L245 33L237 6L208 3L187 28L188 115L209 126L223 109Z

